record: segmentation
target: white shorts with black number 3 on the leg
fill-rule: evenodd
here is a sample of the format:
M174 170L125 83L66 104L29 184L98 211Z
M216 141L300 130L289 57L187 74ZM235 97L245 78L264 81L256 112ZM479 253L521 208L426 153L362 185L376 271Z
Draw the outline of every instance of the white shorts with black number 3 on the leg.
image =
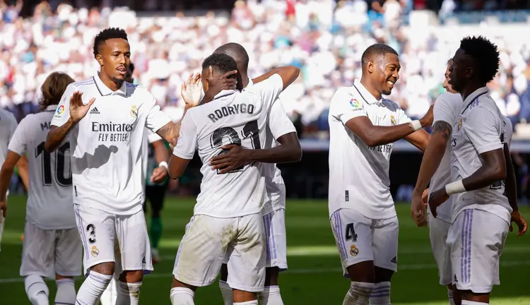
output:
M85 205L74 204L73 208L85 250L86 275L94 265L119 263L114 256L114 236L122 253L122 270L143 270L144 273L153 270L143 210L133 215L114 215Z

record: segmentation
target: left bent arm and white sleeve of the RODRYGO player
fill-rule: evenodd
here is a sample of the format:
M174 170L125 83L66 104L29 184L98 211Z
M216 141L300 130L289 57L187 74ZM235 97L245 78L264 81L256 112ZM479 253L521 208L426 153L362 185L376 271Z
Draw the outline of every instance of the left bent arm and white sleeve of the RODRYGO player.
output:
M179 139L173 148L168 172L171 179L178 179L193 159L197 145L197 128L192 116L184 116Z

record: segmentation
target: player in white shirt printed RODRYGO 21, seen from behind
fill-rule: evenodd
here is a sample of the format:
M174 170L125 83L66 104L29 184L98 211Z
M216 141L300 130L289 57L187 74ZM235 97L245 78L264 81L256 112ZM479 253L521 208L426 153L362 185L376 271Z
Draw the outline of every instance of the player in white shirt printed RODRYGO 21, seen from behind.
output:
M210 67L211 68L208 68ZM202 77L235 70L237 64L226 54L212 54L203 63ZM265 251L261 206L265 181L261 163L254 162L222 173L210 160L228 150L223 145L260 149L265 140L266 119L280 92L298 77L295 67L281 67L251 89L223 90L207 104L190 109L170 159L170 177L184 173L196 148L203 162L201 193L194 216L179 246L172 304L194 304L197 287L216 280L228 249L228 285L234 304L258 304L257 292L264 290ZM234 76L235 78L235 76ZM208 81L203 83L208 93ZM190 268L190 266L193 266Z

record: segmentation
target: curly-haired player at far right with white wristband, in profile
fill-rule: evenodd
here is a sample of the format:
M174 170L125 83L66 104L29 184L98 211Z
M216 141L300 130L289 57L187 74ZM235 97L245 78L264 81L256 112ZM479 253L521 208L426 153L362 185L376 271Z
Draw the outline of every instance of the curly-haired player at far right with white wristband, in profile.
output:
M519 234L526 232L517 201L504 196L505 125L486 87L498 68L495 44L484 37L461 40L449 68L449 84L464 100L452 126L453 182L429 196L430 212L437 217L437 207L457 194L452 200L447 245L452 284L462 305L489 304L493 285L499 284L499 259L510 220L519 225ZM507 195L513 197L512 191Z

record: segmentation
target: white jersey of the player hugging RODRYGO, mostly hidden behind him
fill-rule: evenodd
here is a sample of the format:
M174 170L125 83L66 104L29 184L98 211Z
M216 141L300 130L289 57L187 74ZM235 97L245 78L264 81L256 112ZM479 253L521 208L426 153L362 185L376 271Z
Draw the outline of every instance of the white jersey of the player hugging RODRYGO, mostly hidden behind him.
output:
M249 84L244 90L252 88L252 85L254 83L249 79ZM279 98L272 104L265 132L265 143L262 148L276 147L279 144L276 139L287 133L296 132L296 128L285 113ZM263 163L261 171L265 178L266 188L266 197L261 213L266 215L274 210L285 208L285 183L281 177L281 170L276 167L275 163Z

